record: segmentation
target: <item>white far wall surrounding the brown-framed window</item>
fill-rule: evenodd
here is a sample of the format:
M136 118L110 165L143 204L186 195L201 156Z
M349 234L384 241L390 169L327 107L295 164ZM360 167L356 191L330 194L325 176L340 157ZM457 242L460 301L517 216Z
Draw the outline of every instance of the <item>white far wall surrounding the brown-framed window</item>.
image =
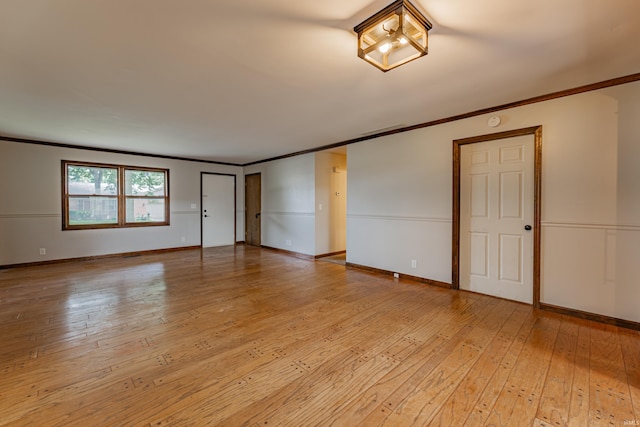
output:
M63 159L169 169L171 225L62 231ZM200 245L201 171L238 176L236 228L241 239L241 167L0 140L0 265ZM46 255L39 255L40 248Z

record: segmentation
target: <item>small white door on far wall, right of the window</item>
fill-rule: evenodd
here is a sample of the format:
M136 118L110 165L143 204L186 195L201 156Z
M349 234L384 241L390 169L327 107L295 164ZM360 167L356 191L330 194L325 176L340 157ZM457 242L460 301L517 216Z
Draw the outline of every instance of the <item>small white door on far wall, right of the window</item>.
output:
M235 176L202 174L203 248L235 244L235 194Z

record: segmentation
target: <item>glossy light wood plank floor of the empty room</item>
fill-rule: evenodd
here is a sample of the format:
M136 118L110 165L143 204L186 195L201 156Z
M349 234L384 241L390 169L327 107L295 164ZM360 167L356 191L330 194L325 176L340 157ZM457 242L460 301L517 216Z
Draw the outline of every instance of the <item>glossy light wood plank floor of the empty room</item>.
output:
M0 425L640 424L640 334L239 246L0 270Z

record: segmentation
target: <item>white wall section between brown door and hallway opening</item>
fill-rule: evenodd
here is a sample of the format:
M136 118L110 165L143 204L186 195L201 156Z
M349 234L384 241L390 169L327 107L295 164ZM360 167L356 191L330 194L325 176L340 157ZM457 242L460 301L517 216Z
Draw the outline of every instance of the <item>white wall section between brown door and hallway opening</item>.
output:
M315 155L313 153L245 168L262 179L262 245L314 255Z

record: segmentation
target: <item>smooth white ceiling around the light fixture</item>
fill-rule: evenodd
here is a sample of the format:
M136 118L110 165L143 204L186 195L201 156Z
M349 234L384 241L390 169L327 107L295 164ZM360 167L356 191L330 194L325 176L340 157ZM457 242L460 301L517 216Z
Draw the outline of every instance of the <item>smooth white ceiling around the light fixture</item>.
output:
M383 73L391 1L2 0L0 135L245 164L640 72L640 0L415 0Z

